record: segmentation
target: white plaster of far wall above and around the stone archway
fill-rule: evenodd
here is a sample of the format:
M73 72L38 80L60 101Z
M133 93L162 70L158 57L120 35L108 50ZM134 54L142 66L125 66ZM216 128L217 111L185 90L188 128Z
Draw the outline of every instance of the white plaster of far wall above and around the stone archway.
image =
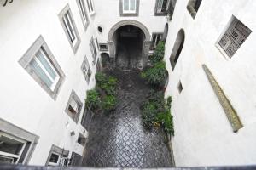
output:
M95 28L102 26L103 31L99 33L96 30L96 36L99 42L108 42L108 32L110 29L121 20L137 20L148 28L152 36L152 32L164 32L165 24L167 22L166 16L154 16L154 0L140 0L139 1L138 16L120 16L119 14L119 0L94 0L96 8Z

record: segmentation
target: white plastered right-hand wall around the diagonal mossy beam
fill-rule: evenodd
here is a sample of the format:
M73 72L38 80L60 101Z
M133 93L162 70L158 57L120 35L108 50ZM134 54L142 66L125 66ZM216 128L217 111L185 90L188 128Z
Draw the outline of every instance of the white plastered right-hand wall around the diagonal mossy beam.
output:
M256 2L253 0L202 1L195 20L187 1L177 1L166 41L166 65L172 95L175 136L172 147L176 166L241 165L256 162ZM231 59L215 46L234 15L252 33ZM183 50L172 71L169 57L183 28ZM230 122L214 94L201 65L206 64L223 88L244 125L232 132ZM181 80L183 91L178 93Z

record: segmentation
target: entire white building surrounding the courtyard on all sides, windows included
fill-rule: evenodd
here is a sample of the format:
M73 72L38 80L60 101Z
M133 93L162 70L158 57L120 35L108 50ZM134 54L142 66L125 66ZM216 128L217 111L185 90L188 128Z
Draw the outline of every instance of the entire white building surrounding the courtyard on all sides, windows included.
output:
M138 68L166 40L176 166L256 162L253 0L0 2L0 139L14 147L4 162L81 163L86 91L127 25L143 31Z

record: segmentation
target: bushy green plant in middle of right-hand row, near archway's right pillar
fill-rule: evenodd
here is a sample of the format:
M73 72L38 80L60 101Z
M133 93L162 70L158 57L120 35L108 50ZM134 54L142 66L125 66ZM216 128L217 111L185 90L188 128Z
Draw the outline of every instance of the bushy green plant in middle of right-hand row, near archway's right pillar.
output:
M166 78L166 63L160 61L153 67L142 71L141 77L154 86L159 86Z

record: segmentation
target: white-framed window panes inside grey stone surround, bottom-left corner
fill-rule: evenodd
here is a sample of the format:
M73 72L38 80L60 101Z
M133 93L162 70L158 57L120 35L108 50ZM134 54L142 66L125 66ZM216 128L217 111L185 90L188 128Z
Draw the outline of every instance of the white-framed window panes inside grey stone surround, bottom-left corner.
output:
M0 131L0 163L18 163L26 146L26 140Z

